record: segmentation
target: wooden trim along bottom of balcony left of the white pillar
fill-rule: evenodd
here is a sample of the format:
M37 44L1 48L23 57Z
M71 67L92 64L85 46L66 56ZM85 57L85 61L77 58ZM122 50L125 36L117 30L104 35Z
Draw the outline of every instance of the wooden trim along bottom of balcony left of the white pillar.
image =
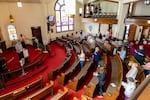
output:
M117 24L117 19L111 18L82 18L82 22L93 22L93 23L100 23L100 24Z

